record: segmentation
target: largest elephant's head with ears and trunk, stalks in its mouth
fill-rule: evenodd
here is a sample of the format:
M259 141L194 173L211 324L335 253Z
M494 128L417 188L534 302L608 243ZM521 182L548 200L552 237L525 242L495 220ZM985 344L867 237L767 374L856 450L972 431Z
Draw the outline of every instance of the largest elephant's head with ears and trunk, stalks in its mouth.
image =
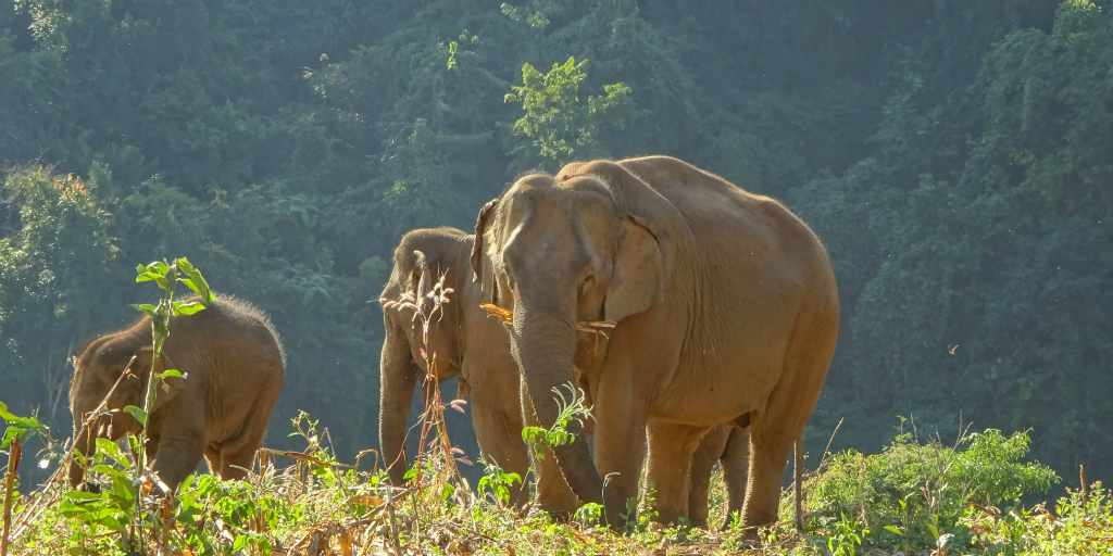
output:
M646 189L612 162L570 166L518 180L479 215L472 268L513 311L511 351L545 427L559 415L552 389L573 380L577 322L621 326L664 299L663 238L640 214L638 186ZM575 494L602 502L584 441L554 451Z

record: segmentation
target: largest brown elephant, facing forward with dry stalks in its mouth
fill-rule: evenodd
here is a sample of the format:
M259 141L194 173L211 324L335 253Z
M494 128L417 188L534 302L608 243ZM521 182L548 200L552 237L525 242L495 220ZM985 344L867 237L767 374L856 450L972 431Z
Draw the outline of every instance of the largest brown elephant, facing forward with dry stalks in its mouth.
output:
M594 458L582 439L555 449L581 499L603 503L622 527L648 439L660 519L687 515L693 450L735 421L750 427L743 523L777 519L781 474L838 334L830 261L799 218L680 160L646 157L523 177L483 208L475 238L472 267L513 311L511 351L543 425L558 417L552 388L582 358L577 322L618 322L584 371Z

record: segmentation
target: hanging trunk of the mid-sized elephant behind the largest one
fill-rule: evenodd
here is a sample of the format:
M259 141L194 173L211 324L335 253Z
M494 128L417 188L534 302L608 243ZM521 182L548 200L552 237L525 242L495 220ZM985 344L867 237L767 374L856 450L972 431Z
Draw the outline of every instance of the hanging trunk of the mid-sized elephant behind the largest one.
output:
M410 400L417 387L420 369L413 361L405 334L386 320L380 369L378 444L391 484L401 486L408 469L405 450Z

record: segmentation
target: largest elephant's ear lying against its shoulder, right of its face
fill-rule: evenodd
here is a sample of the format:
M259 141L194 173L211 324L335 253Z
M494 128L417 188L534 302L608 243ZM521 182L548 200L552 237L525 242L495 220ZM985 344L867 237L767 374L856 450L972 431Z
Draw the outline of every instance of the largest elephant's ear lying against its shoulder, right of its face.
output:
M664 264L653 224L626 215L621 226L622 242L603 300L603 318L615 322L664 300Z

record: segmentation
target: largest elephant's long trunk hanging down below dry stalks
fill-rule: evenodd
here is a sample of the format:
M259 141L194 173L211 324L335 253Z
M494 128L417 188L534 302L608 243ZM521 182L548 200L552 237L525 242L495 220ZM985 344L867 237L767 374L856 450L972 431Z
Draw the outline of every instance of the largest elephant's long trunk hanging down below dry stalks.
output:
M571 309L539 309L534 304L516 304L514 311L514 355L521 366L526 391L543 427L551 428L560 416L559 389L568 398L568 386L574 386L575 319ZM529 310L522 307L530 307ZM602 504L603 481L595 470L583 438L583 426L568 424L575 436L571 444L553 448L556 461L569 486L583 502Z

